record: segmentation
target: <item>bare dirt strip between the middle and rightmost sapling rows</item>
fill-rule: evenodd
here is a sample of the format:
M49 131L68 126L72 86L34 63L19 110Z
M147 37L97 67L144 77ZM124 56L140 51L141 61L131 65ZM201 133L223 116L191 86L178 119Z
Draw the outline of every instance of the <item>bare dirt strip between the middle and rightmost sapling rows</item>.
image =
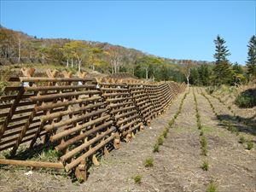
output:
M208 177L218 183L219 191L255 191L255 152L245 150L238 143L236 134L220 124L204 96L196 96L202 129L208 142ZM229 113L220 103L214 100L211 102L219 114Z

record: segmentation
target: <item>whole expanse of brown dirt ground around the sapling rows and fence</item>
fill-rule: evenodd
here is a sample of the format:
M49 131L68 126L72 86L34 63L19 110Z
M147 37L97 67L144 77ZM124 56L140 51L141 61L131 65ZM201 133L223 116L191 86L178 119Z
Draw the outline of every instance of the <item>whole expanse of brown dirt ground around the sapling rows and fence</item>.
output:
M1 191L206 191L213 181L218 191L255 192L256 137L247 132L236 136L224 129L207 99L201 96L201 90L194 90L207 137L207 156L201 155L200 130L196 127L195 102L190 88L159 153L152 152L153 145L177 112L183 94L165 114L152 121L151 128L139 132L131 143L121 143L119 150L102 158L100 166L90 167L86 182L72 183L70 177L62 173L42 170L32 170L32 175L26 176L27 169L3 166L0 169ZM208 97L218 113L229 113L218 100ZM238 143L241 135L253 141L252 150ZM144 166L148 157L154 158L153 167ZM200 168L203 160L209 162L207 172ZM142 176L142 183L134 182L136 175Z

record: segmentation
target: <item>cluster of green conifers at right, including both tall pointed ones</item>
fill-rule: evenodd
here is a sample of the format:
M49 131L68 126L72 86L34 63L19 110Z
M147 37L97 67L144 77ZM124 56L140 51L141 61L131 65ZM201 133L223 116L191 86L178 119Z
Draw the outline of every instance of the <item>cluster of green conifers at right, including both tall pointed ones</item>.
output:
M228 59L230 50L225 45L224 38L219 35L214 40L215 62L213 65L189 67L189 82L195 85L236 85L244 84L248 80L256 79L256 37L253 35L248 42L246 66L237 62L231 63Z

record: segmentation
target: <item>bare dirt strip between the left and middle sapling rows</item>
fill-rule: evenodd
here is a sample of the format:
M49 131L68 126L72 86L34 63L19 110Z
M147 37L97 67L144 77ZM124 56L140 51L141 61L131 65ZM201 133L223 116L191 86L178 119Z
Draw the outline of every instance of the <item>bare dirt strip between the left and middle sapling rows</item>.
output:
M160 153L154 155L154 169L151 171L150 183L158 183L154 186L158 186L159 191L205 189L205 177L199 168L200 154L195 105L192 91L190 91Z

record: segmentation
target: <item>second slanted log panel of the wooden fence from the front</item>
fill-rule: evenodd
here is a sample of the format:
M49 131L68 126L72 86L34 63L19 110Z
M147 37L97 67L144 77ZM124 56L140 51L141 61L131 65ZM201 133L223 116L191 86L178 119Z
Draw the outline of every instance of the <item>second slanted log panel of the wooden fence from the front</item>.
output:
M101 79L98 84L120 136L130 141L136 131L143 129L143 122L127 84L116 79Z

